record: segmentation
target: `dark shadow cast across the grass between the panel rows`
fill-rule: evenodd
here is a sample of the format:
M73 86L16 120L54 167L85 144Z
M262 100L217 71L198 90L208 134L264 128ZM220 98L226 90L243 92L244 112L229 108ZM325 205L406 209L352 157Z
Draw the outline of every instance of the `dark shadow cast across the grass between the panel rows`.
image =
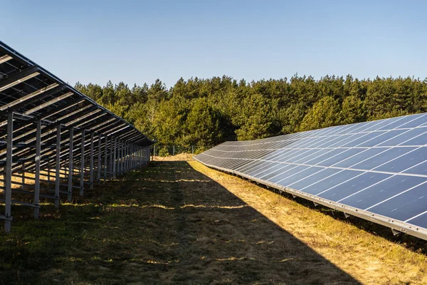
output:
M43 205L39 221L14 215L2 284L359 284L187 162Z

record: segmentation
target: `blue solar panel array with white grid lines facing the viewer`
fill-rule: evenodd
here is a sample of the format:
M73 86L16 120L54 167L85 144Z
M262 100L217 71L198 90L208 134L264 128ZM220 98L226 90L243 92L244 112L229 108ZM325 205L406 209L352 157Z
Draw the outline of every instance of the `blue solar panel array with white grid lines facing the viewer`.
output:
M427 239L427 114L224 142L219 170Z

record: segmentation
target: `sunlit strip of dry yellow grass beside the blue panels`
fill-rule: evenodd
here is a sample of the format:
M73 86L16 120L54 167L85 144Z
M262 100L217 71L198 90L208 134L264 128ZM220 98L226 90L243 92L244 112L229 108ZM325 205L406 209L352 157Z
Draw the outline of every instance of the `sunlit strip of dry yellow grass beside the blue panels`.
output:
M427 257L420 249L408 249L199 162L189 164L362 283L427 284Z

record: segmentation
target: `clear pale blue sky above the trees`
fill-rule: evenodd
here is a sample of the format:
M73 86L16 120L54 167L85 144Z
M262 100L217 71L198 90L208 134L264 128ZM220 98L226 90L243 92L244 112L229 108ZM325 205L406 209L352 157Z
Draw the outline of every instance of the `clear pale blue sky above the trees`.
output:
M424 79L426 11L427 1L4 0L0 39L70 84Z

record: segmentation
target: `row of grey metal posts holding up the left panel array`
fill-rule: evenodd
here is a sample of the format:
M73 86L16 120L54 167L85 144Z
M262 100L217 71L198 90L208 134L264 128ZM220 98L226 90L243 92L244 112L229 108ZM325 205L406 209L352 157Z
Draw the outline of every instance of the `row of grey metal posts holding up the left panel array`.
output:
M38 219L40 214L40 197L41 197L41 169L42 169L42 157L41 157L41 120L37 120L36 122L36 150L35 150L35 158L34 165L31 167L26 166L26 161L22 163L21 172L22 172L22 182L14 182L12 181L13 175L18 169L14 166L14 145L13 145L13 130L14 130L14 114L12 112L8 113L8 121L7 121L7 140L6 140L6 166L4 167L4 203L5 203L5 212L4 215L0 215L0 219L5 220L4 230L5 232L10 232L11 230L11 204L23 204L26 206L34 207L34 218ZM97 167L94 165L94 148L95 148L95 133L90 131L90 153L89 153L89 179L88 182L85 182L85 173L87 173L87 167L85 167L85 130L80 130L81 132L81 145L80 145L80 165L78 170L75 168L75 160L73 159L75 155L75 151L73 149L74 146L74 136L75 136L75 128L69 128L69 149L68 154L61 154L61 126L58 125L56 128L56 147L55 147L55 170L51 170L51 160L52 157L47 157L47 162L43 163L43 171L47 172L48 180L51 180L51 172L55 173L55 188L54 190L43 188L43 190L54 191L55 195L43 195L43 197L51 197L55 199L55 206L59 207L60 193L68 194L68 202L71 202L73 199L73 188L80 188L80 196L83 196L85 184L89 184L90 189L93 189L94 185L94 171L97 170L97 181L100 182L103 178L104 181L112 180L117 175L123 175L125 172L135 169L141 165L144 165L149 160L149 148L142 147L139 145L135 145L131 142L127 142L126 140L122 140L114 135L97 135ZM104 138L104 160L102 163L102 138ZM110 159L108 157L110 156ZM68 167L61 167L67 164L68 158ZM14 168L13 168L14 167ZM32 168L33 167L33 168ZM31 169L30 169L31 168ZM103 175L101 170L104 170ZM25 184L25 173L31 172L33 170L34 173L34 185ZM63 173L66 175L68 172L68 183L67 188L68 191L60 191L60 174ZM79 180L80 185L74 186L73 177L75 177L75 172L80 172ZM103 177L102 177L103 176ZM27 177L31 179L31 177ZM46 182L46 180L43 180ZM19 202L12 200L12 184L18 184L24 187L33 187L33 203L29 202ZM14 189L14 191L16 191ZM26 192L21 190L21 192ZM29 192L28 192L29 193Z

